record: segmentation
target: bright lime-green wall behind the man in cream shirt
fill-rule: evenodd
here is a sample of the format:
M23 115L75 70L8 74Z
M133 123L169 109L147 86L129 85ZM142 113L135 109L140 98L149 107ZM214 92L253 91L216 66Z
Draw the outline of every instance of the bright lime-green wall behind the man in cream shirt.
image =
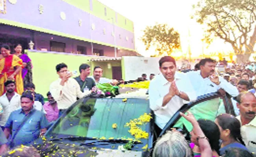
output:
M35 91L46 97L50 84L58 79L56 65L65 63L70 71L77 71L79 75L79 66L82 63L90 64L89 57L78 55L64 55L54 53L39 53L26 51L33 64L33 83Z

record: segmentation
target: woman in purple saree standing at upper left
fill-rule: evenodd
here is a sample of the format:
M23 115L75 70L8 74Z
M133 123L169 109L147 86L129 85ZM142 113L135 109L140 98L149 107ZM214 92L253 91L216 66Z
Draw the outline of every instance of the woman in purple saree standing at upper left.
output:
M24 87L26 84L33 83L32 81L32 62L31 59L26 54L22 54L22 46L21 44L17 44L14 46L14 55L18 56L23 62L22 69L22 79Z

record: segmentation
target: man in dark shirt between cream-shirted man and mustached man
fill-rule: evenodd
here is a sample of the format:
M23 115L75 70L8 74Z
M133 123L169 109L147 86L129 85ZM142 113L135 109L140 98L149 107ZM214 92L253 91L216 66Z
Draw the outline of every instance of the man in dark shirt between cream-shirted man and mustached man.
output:
M84 92L86 90L91 90L95 86L95 82L93 79L88 77L91 73L90 66L88 64L81 64L79 71L80 76L75 77L74 79L80 85L81 91Z

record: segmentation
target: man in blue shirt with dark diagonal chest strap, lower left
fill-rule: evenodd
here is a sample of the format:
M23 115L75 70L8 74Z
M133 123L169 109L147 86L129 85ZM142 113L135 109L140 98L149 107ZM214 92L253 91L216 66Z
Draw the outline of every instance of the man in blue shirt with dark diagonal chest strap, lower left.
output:
M6 122L4 133L7 139L11 134L11 139L17 131L19 125L23 122L26 116L30 116L24 125L18 130L17 135L14 137L11 146L18 146L20 144L29 144L43 135L48 126L48 121L45 114L33 108L34 97L32 91L25 91L21 96L21 109L13 111Z

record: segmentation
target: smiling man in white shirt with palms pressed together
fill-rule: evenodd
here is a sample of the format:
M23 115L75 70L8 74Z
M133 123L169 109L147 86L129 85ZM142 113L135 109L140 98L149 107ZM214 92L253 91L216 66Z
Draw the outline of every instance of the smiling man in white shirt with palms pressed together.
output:
M159 60L160 75L150 81L149 103L155 114L155 130L159 135L167 122L186 101L196 99L195 92L182 73L176 73L176 62L170 56Z

